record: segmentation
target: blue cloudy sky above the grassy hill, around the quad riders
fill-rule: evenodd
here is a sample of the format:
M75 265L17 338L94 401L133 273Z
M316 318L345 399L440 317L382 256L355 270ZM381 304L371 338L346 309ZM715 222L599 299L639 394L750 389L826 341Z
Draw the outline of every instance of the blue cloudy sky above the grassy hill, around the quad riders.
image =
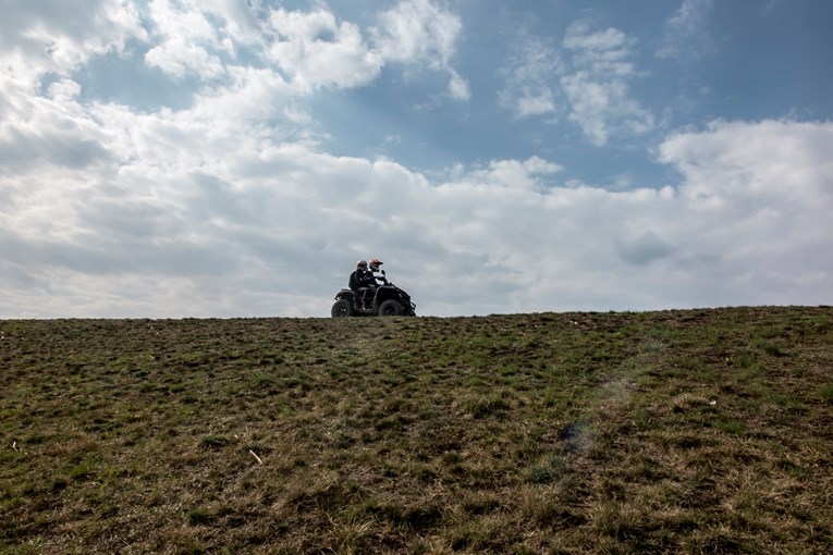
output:
M833 304L829 0L0 13L0 318Z

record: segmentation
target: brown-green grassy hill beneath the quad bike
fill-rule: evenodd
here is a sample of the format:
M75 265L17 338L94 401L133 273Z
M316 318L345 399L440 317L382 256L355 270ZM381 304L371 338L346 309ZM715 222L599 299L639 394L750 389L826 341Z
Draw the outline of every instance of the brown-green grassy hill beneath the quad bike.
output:
M831 553L833 309L0 321L0 553Z

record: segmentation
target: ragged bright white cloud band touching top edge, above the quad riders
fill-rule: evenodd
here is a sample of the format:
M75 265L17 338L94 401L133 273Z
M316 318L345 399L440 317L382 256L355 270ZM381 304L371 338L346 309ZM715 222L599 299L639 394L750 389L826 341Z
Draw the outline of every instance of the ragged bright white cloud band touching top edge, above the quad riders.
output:
M405 0L381 12L380 25L367 30L372 45L358 25L339 21L326 7L299 11L243 9L230 0L154 0L150 15L158 44L146 61L175 78L228 76L241 52L249 52L302 96L367 85L385 64L396 63L448 73L449 96L470 97L468 83L451 64L462 23L428 0Z

